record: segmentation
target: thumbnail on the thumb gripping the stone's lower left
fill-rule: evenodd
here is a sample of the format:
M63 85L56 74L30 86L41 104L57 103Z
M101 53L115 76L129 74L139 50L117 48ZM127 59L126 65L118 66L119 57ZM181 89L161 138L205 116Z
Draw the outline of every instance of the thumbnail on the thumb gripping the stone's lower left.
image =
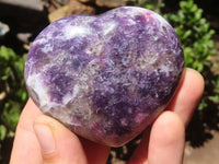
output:
M43 124L34 125L34 131L44 154L50 154L55 151L55 139L50 128Z

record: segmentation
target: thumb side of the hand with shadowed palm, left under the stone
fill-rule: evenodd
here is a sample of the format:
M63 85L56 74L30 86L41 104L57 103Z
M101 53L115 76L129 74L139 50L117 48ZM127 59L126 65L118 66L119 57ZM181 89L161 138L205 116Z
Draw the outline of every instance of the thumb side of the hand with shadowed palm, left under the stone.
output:
M79 139L28 99L16 128L10 164L102 164L108 152L108 147Z

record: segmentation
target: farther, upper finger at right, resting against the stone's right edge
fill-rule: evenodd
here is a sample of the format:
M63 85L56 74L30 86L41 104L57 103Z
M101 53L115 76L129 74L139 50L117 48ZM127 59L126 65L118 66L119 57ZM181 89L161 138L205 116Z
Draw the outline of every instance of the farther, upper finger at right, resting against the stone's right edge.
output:
M168 109L178 114L187 125L204 92L204 79L195 70L186 68L178 90Z

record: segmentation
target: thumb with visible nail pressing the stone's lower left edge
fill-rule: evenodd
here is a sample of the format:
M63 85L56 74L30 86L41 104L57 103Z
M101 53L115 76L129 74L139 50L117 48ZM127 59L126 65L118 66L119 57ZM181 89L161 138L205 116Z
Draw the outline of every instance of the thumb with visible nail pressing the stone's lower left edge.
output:
M44 163L87 164L79 138L56 119L46 115L38 116L34 121L34 131Z

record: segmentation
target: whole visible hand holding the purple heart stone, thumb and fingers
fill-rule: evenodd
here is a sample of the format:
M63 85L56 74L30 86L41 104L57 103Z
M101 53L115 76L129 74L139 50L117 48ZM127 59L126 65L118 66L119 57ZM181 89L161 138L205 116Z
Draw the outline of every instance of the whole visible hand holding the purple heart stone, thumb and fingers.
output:
M185 127L203 92L203 77L185 69L176 94L146 130L128 164L182 164ZM16 128L10 163L104 164L110 149L76 136L59 121L43 115L30 98Z

